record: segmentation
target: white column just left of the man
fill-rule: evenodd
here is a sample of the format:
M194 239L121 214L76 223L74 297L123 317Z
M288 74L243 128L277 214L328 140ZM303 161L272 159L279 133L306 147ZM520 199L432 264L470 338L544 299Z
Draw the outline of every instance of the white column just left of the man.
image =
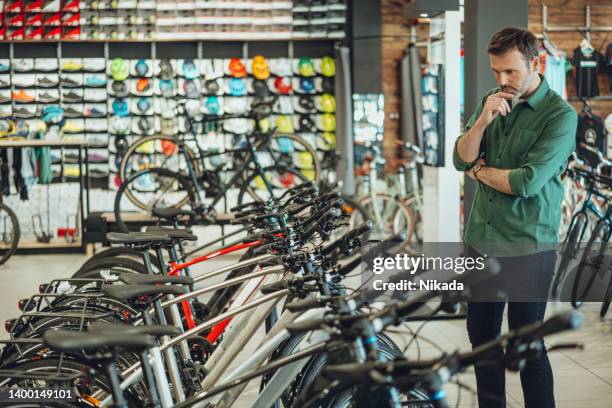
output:
M433 20L440 20L434 22ZM453 167L453 147L460 132L459 55L461 16L447 11L432 19L432 30L443 29L444 39L430 47L432 62L444 64L444 167L423 169L423 238L425 242L460 242L460 179ZM442 59L437 61L437 59Z

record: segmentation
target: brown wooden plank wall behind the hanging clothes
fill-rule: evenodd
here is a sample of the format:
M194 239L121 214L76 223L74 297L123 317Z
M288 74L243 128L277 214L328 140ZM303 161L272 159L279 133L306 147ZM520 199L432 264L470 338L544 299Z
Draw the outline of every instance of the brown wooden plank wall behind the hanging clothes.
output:
M467 0L469 1L469 0ZM404 49L408 46L409 29L403 18L403 6L408 0L381 0L382 7L382 82L385 97L385 156L394 154L394 140L400 137L400 121L397 114L401 111L401 91L399 65ZM529 0L529 29L534 33L542 32L542 3L548 6L548 26L583 26L585 5L591 7L591 26L612 26L612 0ZM417 41L427 38L427 25L417 28ZM571 58L573 50L582 39L578 32L550 32L551 41ZM591 43L605 55L606 47L612 42L612 33L593 32ZM424 48L420 49L425 61ZM608 78L605 72L599 75L599 89L602 95L608 92ZM567 91L569 96L576 95L573 72L568 73ZM576 111L582 110L582 102L570 101ZM592 100L591 106L596 114L605 118L612 113L612 100Z

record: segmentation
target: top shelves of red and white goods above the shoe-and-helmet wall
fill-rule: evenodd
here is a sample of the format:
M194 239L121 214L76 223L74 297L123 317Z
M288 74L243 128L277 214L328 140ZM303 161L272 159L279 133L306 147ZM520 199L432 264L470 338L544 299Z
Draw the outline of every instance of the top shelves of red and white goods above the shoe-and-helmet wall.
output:
M344 38L346 0L0 0L0 40Z

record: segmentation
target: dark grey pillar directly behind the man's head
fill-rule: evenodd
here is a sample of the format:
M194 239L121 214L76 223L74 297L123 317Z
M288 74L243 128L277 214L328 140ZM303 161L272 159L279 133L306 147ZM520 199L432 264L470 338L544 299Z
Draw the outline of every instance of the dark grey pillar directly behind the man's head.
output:
M504 27L527 28L528 0L465 0L463 46L465 50L465 120L467 122L483 95L495 88L489 65L487 44L496 31ZM500 18L503 16L503 18ZM450 136L453 138L453 136ZM454 137L456 138L456 136ZM476 183L465 178L463 189L464 225L472 208Z

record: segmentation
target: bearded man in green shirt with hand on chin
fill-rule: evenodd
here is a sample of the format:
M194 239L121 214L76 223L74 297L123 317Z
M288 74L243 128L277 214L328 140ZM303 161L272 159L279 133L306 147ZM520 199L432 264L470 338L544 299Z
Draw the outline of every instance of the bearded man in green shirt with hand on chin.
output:
M468 121L453 161L478 182L464 237L468 251L499 257L501 263L500 276L483 284L483 292L501 286L508 326L516 329L542 320L546 310L561 220L559 176L575 148L577 115L538 74L538 43L531 32L500 30L487 51L499 87L484 96ZM484 300L468 304L474 347L501 332L505 299ZM505 407L503 364L477 366L475 372L480 408ZM527 363L521 384L527 408L555 406L545 353Z

